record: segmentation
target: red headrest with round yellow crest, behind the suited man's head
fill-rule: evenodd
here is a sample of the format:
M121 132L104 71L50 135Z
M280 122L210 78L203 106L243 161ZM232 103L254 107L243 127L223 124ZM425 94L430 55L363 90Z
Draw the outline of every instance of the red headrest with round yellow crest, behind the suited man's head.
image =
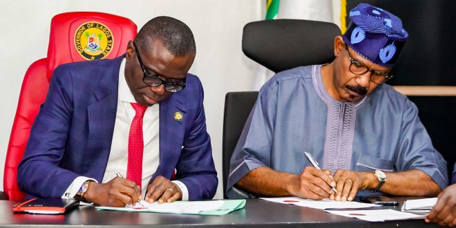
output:
M60 64L118 57L135 38L137 26L125 17L102 12L65 12L50 23L48 79Z

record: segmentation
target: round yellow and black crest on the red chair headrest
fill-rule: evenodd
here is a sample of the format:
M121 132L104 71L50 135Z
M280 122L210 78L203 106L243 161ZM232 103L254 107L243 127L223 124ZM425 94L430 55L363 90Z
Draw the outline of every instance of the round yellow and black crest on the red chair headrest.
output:
M75 32L76 50L84 59L103 59L111 53L113 44L111 30L99 22L83 23Z

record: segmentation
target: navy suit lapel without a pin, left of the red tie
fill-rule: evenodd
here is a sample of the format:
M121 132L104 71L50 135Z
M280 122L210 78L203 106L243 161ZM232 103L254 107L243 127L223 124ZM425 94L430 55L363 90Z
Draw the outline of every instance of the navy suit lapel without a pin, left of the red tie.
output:
M87 106L88 153L84 163L86 167L97 167L91 174L98 182L102 182L111 151L122 59L113 59L112 67L100 81L99 89L93 93L93 102Z

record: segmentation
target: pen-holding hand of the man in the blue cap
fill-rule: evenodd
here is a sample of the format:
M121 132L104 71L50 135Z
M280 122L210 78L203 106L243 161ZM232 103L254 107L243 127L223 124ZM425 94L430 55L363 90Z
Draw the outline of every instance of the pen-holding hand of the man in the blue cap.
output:
M314 167L305 167L298 180L294 180L289 186L289 193L299 198L321 200L329 198L332 187L336 182L330 177L331 171L319 170Z

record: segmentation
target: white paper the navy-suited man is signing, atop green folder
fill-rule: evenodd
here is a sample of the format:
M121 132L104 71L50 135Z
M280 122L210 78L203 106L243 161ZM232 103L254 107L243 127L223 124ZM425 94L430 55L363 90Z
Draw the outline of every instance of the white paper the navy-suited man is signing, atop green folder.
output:
M97 207L97 209L109 209L115 211L146 211L158 213L202 213L213 211L223 205L222 200L208 201L175 201L172 203L159 204L158 202L149 203L141 200L144 207L140 204L126 205L125 207Z

